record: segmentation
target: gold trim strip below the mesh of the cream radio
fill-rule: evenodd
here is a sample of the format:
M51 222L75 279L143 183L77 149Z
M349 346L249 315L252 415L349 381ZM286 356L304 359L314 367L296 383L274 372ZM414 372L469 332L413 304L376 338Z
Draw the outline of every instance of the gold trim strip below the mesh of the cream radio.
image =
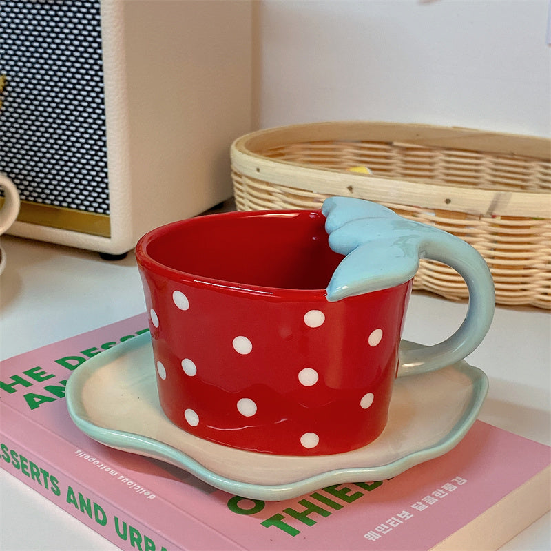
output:
M0 205L2 203L3 197L0 197ZM111 236L109 215L56 207L56 205L21 201L17 220L69 231L91 233L93 236Z

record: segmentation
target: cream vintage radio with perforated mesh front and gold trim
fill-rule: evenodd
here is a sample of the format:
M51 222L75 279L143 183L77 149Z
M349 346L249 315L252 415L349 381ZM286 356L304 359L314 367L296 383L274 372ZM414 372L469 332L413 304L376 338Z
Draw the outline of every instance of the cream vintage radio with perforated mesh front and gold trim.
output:
M0 0L10 233L119 255L232 194L251 128L251 2Z

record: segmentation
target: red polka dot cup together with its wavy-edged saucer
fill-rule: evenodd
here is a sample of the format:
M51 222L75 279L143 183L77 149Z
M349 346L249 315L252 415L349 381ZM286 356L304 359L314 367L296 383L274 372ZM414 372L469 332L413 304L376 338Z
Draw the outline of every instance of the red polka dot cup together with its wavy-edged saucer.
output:
M486 397L464 361L494 312L486 262L381 205L200 216L150 231L136 258L150 333L67 386L74 422L107 446L289 499L443 455ZM401 340L419 258L469 289L464 322L434 346Z

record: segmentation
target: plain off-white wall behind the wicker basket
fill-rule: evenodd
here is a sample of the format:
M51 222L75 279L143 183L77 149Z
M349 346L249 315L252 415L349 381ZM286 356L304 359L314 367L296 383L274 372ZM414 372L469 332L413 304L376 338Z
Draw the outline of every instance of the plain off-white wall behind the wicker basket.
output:
M258 0L256 127L366 119L549 136L548 0Z

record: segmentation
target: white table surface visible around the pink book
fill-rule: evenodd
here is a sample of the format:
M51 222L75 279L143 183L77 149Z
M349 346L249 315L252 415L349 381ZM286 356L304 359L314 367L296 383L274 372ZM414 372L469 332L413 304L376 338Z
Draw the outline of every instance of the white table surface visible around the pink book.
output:
M145 311L134 254L107 262L97 253L3 236L0 360ZM466 304L413 293L404 338L434 344L455 331ZM480 419L551 445L551 313L498 307L467 360L486 371ZM551 514L503 546L551 549ZM495 527L493 529L496 529ZM90 528L0 469L0 550L114 551Z

